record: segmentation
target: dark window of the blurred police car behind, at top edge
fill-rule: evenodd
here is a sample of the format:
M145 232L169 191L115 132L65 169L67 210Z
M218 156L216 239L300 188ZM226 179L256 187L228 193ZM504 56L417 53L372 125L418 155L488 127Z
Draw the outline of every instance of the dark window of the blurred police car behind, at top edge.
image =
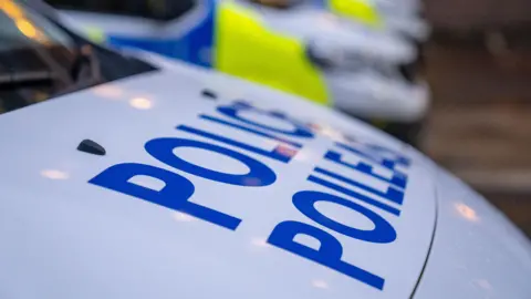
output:
M198 0L46 0L59 9L173 20L190 11Z

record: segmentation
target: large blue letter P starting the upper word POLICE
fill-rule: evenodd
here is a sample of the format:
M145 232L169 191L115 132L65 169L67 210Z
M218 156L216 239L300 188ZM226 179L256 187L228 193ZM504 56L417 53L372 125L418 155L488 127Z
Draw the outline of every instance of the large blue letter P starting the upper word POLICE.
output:
M135 176L160 179L165 183L165 186L160 190L146 188L129 182ZM163 168L137 163L117 164L103 171L88 183L174 210L180 210L228 229L235 230L241 221L230 215L188 202L195 190L194 184L186 177Z

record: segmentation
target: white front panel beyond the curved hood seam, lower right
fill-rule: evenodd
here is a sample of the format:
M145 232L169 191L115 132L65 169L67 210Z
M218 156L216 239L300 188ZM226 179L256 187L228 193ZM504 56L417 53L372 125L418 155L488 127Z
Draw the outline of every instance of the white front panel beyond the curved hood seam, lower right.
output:
M436 181L435 240L415 298L530 298L529 239L449 173Z

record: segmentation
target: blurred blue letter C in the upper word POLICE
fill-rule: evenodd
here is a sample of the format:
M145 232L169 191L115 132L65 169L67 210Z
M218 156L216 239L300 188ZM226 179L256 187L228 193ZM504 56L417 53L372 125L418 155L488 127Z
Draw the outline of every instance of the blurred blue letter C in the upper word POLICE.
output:
M293 130L287 131L287 130L283 130L283 128L278 128L278 127L274 127L274 126L269 126L269 125L264 125L264 124L261 124L261 123L257 123L252 120L248 120L246 117L240 116L239 113L242 112L242 111L250 111L250 112L253 112L253 113L257 113L257 114L268 115L268 116L270 116L272 118L275 118L275 120L284 121L284 122L291 124L293 126ZM313 133L305 125L303 125L303 124L301 124L301 123L299 123L299 122L296 122L296 121L294 121L290 117L287 117L285 115L280 115L279 113L275 113L275 112L273 112L273 113L264 112L264 111L258 110L256 107L249 106L247 104L246 105L236 104L236 105L232 105L232 106L218 107L218 112L220 112L221 114L227 115L231 118L243 122L246 124L258 126L260 128L263 128L263 130L267 130L267 131L270 131L270 132L280 133L280 134L284 134L284 135L289 135L289 136L304 137L304 138L313 137Z

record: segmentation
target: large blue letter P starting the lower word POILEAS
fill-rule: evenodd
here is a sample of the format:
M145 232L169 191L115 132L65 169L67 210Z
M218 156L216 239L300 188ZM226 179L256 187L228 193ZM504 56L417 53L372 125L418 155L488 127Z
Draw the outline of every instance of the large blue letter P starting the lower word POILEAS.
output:
M315 250L296 243L296 235L306 235L317 239L321 244L320 248ZM382 290L384 288L385 280L382 277L341 260L343 256L341 243L329 233L311 225L298 221L280 223L269 236L268 243L350 276L376 289Z

